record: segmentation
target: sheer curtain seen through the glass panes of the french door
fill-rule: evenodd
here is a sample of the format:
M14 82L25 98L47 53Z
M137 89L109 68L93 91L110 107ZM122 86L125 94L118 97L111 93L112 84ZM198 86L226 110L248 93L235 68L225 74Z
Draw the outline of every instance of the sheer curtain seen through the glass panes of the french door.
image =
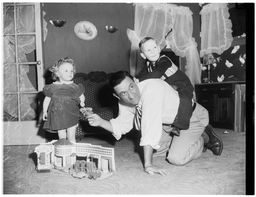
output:
M17 32L35 32L35 11L33 6L17 6L16 7ZM43 17L45 12L43 11ZM3 34L14 33L14 18L13 10L10 7L4 7L3 11ZM47 22L43 19L43 34L44 40L47 35ZM26 54L35 50L34 35L18 35L18 61L28 62ZM3 36L3 63L15 63L15 38L13 35ZM30 82L27 73L29 72L28 65L20 65L19 79L20 91L37 91ZM7 65L4 67L3 75L4 92L17 91L16 66ZM3 108L6 113L13 118L18 118L18 106L15 105L14 95L4 94ZM36 98L35 94L20 94L20 110L21 120L33 120L36 117L36 112L30 107L30 104Z

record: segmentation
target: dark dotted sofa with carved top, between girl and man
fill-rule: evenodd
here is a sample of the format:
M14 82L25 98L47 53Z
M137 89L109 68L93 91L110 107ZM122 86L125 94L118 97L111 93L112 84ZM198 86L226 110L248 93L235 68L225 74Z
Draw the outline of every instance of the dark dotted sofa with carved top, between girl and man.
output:
M118 115L118 99L113 96L108 84L109 77L113 73L90 72L76 73L74 83L82 83L85 89L85 107L92 107L95 114L100 115L105 120L116 118ZM80 112L76 137L83 137L85 134L107 133L101 127L92 127L84 115Z

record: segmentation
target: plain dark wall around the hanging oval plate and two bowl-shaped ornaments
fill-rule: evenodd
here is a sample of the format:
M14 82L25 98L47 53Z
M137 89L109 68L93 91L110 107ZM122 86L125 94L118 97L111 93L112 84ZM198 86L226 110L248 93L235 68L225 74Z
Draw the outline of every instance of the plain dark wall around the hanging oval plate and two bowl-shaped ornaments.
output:
M44 19L47 22L47 37L44 41L44 63L46 76L48 68L58 59L70 56L77 65L76 72L130 71L129 57L131 42L127 28L133 29L132 4L126 3L44 3ZM54 27L50 19L64 19L63 27ZM98 34L93 40L79 38L75 25L89 21L95 25ZM105 26L118 28L115 33L106 31Z

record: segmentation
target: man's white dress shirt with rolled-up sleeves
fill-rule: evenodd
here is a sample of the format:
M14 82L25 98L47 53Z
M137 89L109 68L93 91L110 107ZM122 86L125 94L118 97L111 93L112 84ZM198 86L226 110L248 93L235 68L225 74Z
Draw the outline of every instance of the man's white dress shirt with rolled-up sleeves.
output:
M161 79L147 79L138 83L140 106L142 106L140 146L150 145L154 149L162 136L162 124L172 124L178 112L180 98L168 83ZM118 140L133 127L135 106L119 100L119 114L110 122L113 135Z

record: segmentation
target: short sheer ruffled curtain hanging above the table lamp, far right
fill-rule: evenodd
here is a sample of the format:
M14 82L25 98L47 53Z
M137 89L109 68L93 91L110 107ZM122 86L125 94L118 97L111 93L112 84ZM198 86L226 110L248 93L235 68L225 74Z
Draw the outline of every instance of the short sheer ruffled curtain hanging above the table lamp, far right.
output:
M204 5L200 14L202 15L200 57L210 53L220 55L233 41L232 23L228 19L228 4Z

